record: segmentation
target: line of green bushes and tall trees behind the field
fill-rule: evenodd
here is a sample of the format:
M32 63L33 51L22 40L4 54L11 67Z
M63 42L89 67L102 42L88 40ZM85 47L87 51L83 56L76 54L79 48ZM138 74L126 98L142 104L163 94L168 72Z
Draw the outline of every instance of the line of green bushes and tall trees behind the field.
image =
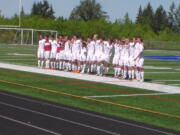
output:
M2 14L2 13L1 13ZM69 18L55 17L55 11L47 0L34 2L31 13L21 10L22 27L35 29L55 29L63 35L91 36L94 33L101 37L119 38L141 36L144 39L180 41L180 4L172 3L169 11L162 5L153 10L151 3L145 8L139 7L135 22L128 13L115 22L102 10L96 0L83 0L75 7ZM4 18L0 23L17 24L18 17Z

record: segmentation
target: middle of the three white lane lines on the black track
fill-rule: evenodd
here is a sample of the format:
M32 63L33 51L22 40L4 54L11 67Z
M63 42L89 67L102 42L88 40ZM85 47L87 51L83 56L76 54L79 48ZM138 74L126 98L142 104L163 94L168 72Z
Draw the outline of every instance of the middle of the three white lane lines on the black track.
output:
M104 129L100 129L100 128L97 128L97 127L93 127L93 126L90 126L90 125L87 125L87 124L71 121L71 120L68 120L68 119L64 119L64 118L61 118L61 117L53 116L53 115L50 115L50 114L47 114L47 113L42 113L42 112L35 111L35 110L32 110L32 109L28 109L28 108L24 108L24 107L12 105L12 104L4 103L2 101L0 101L0 104L8 106L8 107L16 108L16 109L19 109L19 110L35 113L35 114L38 114L38 115L41 115L41 116L53 118L53 119L56 119L56 120L62 120L62 121L65 121L67 123L71 123L71 124L74 124L74 125L90 128L90 129L97 130L97 131L104 132L104 133L108 133L108 134L111 134L111 135L120 135L119 133L115 133L115 132L111 132L111 131L108 131L108 130L104 130Z

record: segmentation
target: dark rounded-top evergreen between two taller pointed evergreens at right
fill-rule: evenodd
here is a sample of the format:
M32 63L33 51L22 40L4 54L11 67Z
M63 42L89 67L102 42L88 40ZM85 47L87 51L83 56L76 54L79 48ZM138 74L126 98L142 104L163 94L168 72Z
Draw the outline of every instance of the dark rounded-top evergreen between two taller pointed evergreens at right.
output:
M154 25L153 30L155 32L161 31L168 27L168 19L166 11L164 10L163 6L160 5L155 12L154 15Z

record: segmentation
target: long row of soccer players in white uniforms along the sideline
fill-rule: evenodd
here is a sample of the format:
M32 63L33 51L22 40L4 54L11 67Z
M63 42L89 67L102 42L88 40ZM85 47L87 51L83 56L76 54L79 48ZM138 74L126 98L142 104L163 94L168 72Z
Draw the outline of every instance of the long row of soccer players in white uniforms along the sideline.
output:
M106 40L97 35L85 40L76 36L59 36L58 39L40 36L38 67L102 76L112 65L115 77L144 81L143 50L143 41L139 37L129 41L127 38Z

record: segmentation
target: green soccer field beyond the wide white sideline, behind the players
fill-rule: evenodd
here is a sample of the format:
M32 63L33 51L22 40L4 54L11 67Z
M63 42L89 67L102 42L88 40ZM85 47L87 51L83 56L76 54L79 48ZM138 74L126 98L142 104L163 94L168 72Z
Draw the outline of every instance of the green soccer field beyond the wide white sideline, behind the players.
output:
M36 66L37 46L0 45L0 61ZM179 56L180 51L145 50L145 56ZM111 69L108 73L113 74ZM180 61L145 59L145 81L180 86Z

